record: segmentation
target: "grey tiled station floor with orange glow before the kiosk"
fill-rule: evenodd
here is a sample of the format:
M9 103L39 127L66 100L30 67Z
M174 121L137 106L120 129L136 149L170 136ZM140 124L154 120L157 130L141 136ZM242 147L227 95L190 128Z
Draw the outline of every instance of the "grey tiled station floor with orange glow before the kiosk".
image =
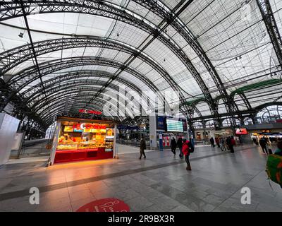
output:
M118 160L99 160L44 167L23 162L0 168L1 211L75 211L100 198L118 198L131 211L281 211L282 189L266 178L266 156L253 146L235 154L196 148L192 172L170 151L137 153ZM30 205L29 189L40 191ZM243 187L252 191L251 205L240 203Z

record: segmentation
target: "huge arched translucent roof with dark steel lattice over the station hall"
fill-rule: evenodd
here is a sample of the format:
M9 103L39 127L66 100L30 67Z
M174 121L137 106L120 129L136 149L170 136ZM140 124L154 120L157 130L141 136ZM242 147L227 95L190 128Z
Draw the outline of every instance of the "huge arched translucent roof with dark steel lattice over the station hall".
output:
M49 125L68 96L70 113L102 110L118 87L145 112L166 102L197 119L281 101L282 0L0 4L1 110L25 105Z

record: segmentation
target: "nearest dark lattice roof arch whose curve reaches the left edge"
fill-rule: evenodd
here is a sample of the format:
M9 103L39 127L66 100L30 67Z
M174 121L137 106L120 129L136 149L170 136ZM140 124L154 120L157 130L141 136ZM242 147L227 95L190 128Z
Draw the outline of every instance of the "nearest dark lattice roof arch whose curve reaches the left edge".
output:
M71 4L72 1L75 1L75 4ZM197 69L195 69L195 66L193 66L190 59L183 52L183 50L176 45L176 43L173 43L169 39L169 37L166 37L161 33L159 34L159 30L157 27L152 26L152 24L150 24L148 21L147 23L145 23L144 18L142 18L141 20L140 17L138 17L135 13L130 12L128 10L123 10L121 7L117 7L114 4L106 4L102 1L97 1L97 2L84 1L84 0L72 0L72 1L64 1L63 3L57 1L44 1L44 2L38 0L30 1L25 4L25 7L27 8L25 11L27 14L32 13L34 11L34 8L30 8L30 5L36 4L39 13L51 13L51 12L89 13L89 14L94 14L97 16L105 16L123 21L125 23L129 23L130 25L134 25L137 28L140 28L142 30L145 30L146 32L151 33L152 35L158 34L157 38L161 40L161 42L163 42L169 49L171 49L171 51L174 54L176 54L176 56L180 59L180 61L182 61L183 64L187 67L187 69L190 71L192 76L199 84L205 97L210 102L212 111L214 111L214 113L216 114L217 109L215 104L213 103L212 95L210 95L210 93L208 92L209 90L207 88L207 85L205 85L204 81L202 80L200 73L198 73ZM5 11L5 9L2 11ZM16 11L16 6L14 6L13 10L8 11L6 17L3 16L2 18L0 18L0 21L18 16L21 15L20 13L18 13L18 11ZM170 20L171 19L172 18L170 18ZM171 22L173 21L170 21L170 23ZM171 81L173 81L173 78L170 79ZM183 94L180 88L178 87L178 85L174 83L174 85L171 85L171 87L174 88L174 90L179 93L181 102L185 101Z

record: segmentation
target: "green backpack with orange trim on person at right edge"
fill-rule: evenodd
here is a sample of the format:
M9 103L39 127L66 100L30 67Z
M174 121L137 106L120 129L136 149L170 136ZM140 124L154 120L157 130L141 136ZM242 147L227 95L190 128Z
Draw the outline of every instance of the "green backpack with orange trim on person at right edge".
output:
M266 173L272 182L279 184L282 188L282 156L269 155L266 162Z

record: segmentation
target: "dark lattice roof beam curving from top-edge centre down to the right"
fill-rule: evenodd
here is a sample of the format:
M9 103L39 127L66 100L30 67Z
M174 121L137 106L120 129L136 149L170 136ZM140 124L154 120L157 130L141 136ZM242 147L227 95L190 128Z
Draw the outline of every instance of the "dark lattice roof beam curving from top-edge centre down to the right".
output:
M168 7L161 6L158 1L143 1L143 0L132 0L136 2L137 4L140 4L141 6L144 6L145 8L149 9L150 11L154 12L161 18L164 18L166 21L170 21L173 14L171 11L168 11ZM163 3L161 3L163 4ZM216 88L219 89L220 94L223 96L224 103L226 105L226 109L229 110L229 112L233 112L238 110L238 106L235 104L235 102L232 101L232 98L229 97L226 89L224 89L223 82L221 81L221 78L219 74L217 73L216 69L212 65L212 62L209 60L209 57L207 57L207 54L204 52L204 49L202 49L199 42L197 42L197 39L194 35L192 35L192 32L185 26L183 22L180 21L180 18L176 18L176 20L173 20L171 23L171 26L180 34L183 39L190 44L190 47L195 51L198 57L200 57L202 63L206 67L207 71L209 72L210 76L212 77L214 83L216 84Z

